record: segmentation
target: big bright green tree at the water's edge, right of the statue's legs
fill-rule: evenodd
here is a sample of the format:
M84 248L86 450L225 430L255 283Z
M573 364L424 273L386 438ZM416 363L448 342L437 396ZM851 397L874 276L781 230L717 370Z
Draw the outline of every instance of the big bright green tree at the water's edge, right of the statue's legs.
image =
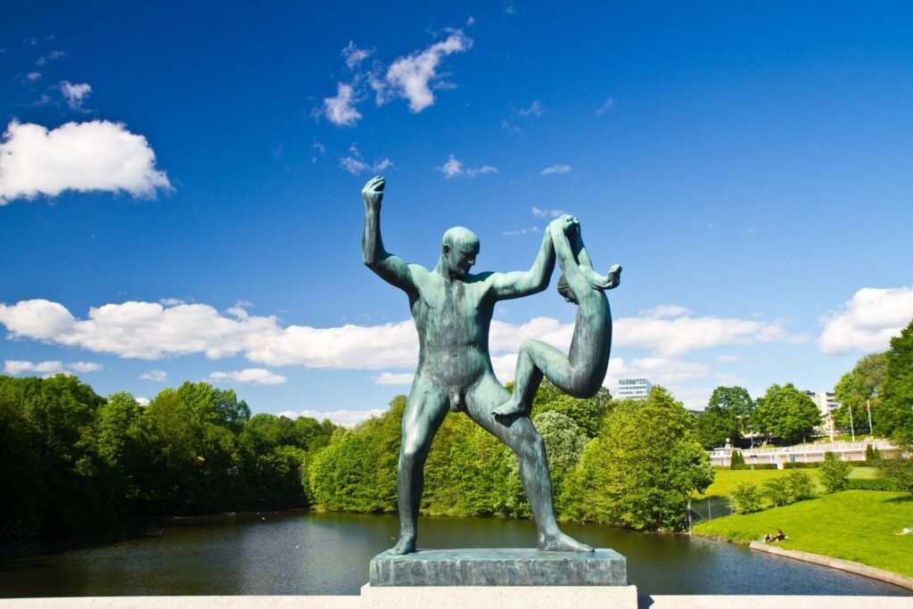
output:
M568 517L634 529L677 529L687 501L713 481L687 410L655 385L645 400L615 402L603 431L566 482Z

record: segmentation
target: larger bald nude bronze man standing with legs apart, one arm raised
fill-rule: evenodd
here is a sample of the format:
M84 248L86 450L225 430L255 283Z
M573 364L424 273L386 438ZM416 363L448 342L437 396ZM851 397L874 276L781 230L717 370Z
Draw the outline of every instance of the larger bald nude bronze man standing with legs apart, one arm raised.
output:
M498 421L491 412L495 404L504 403L510 396L495 378L488 355L488 328L495 303L548 287L555 266L551 236L542 239L539 256L528 271L469 273L476 263L478 237L462 226L444 234L441 257L434 269L406 264L383 249L380 211L384 185L378 176L362 189L362 257L368 268L409 297L419 340L418 367L403 415L396 472L400 537L390 552L415 551L425 458L448 410L466 412L517 454L523 490L539 531L540 550L593 551L558 528L545 443L530 418Z

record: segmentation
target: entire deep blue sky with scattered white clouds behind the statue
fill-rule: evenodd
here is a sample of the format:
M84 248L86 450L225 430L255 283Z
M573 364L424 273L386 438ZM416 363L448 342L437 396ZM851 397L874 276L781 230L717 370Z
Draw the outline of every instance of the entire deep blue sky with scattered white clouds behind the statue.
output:
M151 398L353 421L408 390L383 236L528 268L551 215L624 266L606 380L690 407L830 390L913 318L906 3L15 3L0 23L0 362ZM503 303L495 366L566 346L549 290ZM406 384L403 384L406 383ZM346 411L346 412L336 412Z

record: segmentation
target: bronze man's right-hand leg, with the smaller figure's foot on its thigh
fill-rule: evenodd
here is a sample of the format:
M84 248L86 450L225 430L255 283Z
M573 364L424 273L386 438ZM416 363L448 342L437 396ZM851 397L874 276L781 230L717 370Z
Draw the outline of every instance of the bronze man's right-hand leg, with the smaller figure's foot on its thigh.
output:
M469 390L467 413L473 421L497 436L517 454L523 490L530 500L530 509L536 519L536 529L539 530L539 549L593 551L590 546L568 537L558 528L551 499L551 474L545 456L545 442L535 425L532 425L530 417L517 416L498 421L491 412L492 404L502 404L508 398L508 390L498 383L494 375L487 374Z

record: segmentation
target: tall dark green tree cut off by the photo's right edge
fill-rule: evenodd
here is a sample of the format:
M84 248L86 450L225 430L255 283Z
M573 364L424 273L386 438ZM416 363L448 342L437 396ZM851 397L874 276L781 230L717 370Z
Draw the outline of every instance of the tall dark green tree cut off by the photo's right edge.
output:
M913 321L891 339L886 357L879 433L913 445Z

